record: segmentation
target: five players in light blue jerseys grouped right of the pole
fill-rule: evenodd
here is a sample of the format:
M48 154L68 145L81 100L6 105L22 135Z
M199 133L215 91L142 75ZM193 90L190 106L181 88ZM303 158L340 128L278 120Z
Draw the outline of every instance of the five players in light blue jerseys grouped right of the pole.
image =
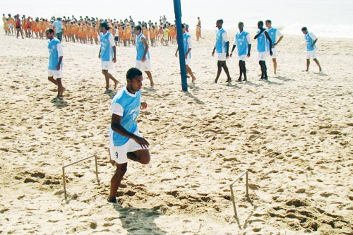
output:
M227 83L232 82L232 78L229 75L229 70L227 67L227 59L229 58L229 39L227 32L222 28L223 20L217 20L216 22L216 42L215 47L213 48L212 56L215 56L217 52L217 76L215 78L215 83L217 83L222 73L222 68L227 75ZM254 40L257 40L257 51L258 51L258 64L261 68L261 80L268 80L266 59L270 56L273 60L273 70L274 73L277 73L277 45L282 41L283 35L280 30L272 27L271 20L265 20L265 26L263 27L263 21L258 21L258 30L254 37ZM239 32L234 37L234 43L232 47L232 56L234 49L238 47L238 57L239 57L239 78L238 81L247 81L246 78L246 58L249 58L251 55L251 37L249 32L244 31L244 23L238 23ZM316 59L316 42L317 37L313 35L312 32L308 32L306 27L301 28L301 32L305 35L306 40L306 72L309 71L310 59L316 62L321 73L321 65ZM244 79L242 79L244 76Z

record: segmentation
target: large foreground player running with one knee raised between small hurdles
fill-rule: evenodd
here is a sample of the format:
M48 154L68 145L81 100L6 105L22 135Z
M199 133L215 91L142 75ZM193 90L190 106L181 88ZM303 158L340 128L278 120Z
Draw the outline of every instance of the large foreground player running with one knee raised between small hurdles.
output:
M119 90L112 100L112 124L109 128L109 154L116 170L110 181L109 203L116 203L116 191L126 172L128 159L141 164L150 162L149 143L138 131L136 123L140 109L147 104L140 102L142 72L130 68L126 73L127 85Z

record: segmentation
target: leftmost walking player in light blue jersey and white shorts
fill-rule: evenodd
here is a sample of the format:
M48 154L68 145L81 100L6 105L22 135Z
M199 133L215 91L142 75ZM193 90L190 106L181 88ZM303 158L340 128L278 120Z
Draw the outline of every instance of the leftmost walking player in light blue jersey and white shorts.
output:
M65 88L61 82L63 74L63 57L64 52L61 47L61 42L54 37L54 30L48 28L45 30L47 35L48 49L49 49L49 66L48 66L48 80L58 86L58 95L56 99L63 100L63 93Z

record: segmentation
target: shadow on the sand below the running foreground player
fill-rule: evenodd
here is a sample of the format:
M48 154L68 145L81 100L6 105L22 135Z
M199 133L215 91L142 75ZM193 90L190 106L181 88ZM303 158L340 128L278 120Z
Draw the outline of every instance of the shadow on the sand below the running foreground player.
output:
M119 219L122 227L128 231L128 235L140 234L167 234L166 231L157 227L155 219L163 215L159 212L159 207L152 209L122 207L117 204L114 205L116 212L119 212Z

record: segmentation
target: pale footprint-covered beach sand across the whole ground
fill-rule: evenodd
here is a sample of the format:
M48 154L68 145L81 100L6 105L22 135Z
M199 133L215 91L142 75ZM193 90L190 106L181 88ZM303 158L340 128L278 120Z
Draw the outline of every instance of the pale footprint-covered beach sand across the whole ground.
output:
M233 42L235 30L229 30ZM111 96L104 94L99 46L64 42L64 101L47 80L47 41L0 35L1 234L352 234L353 40L318 38L306 66L304 36L285 35L278 71L268 59L259 81L256 43L248 83L236 83L237 57L213 83L215 32L194 43L196 84L181 91L176 45L151 48L140 132L151 162L128 163L117 200L107 203ZM253 37L253 34L252 34ZM122 85L136 49L118 47L111 71ZM121 87L122 87L121 85ZM66 168L68 202L61 167ZM234 218L229 184L234 188Z

